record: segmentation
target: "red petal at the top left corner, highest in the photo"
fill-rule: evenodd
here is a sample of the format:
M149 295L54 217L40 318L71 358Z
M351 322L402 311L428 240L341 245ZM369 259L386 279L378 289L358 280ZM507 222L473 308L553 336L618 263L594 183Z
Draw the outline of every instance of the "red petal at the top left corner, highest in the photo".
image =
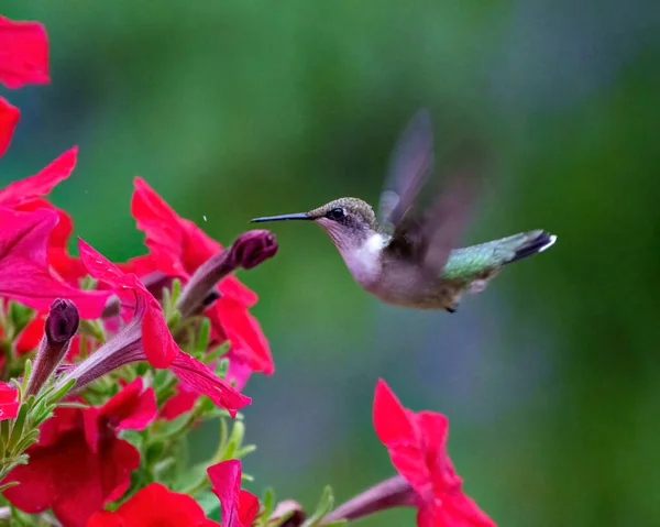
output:
M20 88L48 83L48 39L38 22L0 17L0 83Z

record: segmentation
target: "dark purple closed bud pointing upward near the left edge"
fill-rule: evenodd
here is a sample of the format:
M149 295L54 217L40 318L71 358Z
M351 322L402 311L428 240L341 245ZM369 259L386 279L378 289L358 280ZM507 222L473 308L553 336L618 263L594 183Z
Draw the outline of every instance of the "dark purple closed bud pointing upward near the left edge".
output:
M51 304L44 336L28 382L28 395L36 394L62 362L79 323L78 309L73 301L58 298Z

